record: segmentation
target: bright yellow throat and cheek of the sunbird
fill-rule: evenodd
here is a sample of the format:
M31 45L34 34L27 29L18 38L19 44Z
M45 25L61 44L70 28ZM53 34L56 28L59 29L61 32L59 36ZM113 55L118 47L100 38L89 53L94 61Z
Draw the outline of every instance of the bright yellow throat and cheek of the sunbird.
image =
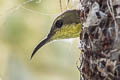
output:
M65 24L58 29L56 33L51 37L51 40L56 39L68 39L68 38L77 38L80 36L82 25L78 24Z

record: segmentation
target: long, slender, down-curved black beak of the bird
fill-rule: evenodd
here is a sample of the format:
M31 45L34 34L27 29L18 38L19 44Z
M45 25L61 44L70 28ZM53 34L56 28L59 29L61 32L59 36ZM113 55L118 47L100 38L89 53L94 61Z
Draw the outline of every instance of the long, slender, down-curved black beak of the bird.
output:
M50 37L47 37L47 38L45 38L43 41L41 41L41 42L35 47L35 49L33 50L33 53L32 53L32 55L31 55L31 58L30 58L30 59L32 59L33 56L35 55L35 53L36 53L43 45L45 45L45 44L48 43L49 41L50 41Z

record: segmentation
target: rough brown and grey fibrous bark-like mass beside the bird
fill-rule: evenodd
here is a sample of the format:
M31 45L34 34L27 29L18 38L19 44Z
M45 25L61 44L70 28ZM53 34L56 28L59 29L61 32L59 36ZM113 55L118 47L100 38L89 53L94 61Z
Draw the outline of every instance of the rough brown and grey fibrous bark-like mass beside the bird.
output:
M120 80L120 0L81 0L81 80Z

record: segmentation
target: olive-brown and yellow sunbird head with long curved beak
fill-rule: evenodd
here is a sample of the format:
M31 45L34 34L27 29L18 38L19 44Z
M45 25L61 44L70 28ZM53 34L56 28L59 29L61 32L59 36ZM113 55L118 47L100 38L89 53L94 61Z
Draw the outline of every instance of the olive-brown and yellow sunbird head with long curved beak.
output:
M49 34L35 47L31 59L46 43L59 39L77 38L81 31L80 10L66 10L54 19Z

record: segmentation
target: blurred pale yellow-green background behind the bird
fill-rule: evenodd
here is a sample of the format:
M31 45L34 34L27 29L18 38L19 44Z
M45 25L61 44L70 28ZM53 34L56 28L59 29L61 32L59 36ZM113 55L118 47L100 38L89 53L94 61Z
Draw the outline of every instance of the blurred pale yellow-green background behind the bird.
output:
M79 80L79 39L48 43L30 60L61 13L59 5L59 0L0 0L0 80ZM65 0L62 7L65 11Z

